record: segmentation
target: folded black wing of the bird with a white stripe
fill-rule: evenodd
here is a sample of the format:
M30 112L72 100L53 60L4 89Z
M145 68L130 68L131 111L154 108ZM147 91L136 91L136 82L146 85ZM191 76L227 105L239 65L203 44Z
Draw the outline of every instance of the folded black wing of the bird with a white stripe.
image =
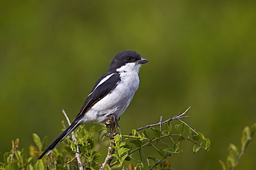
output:
M108 77L109 76L109 77ZM105 81L102 83L101 81ZM75 118L84 114L88 109L90 109L96 102L100 99L104 98L107 94L109 94L120 82L120 76L118 72L107 72L103 76L101 76L98 81L95 83L91 93L86 98L84 105L80 109L79 113Z

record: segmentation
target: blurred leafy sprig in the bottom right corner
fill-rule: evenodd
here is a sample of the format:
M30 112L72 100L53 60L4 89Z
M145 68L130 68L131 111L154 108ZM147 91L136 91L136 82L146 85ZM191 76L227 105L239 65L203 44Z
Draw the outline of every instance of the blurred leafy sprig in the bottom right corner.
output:
M234 170L237 169L237 165L239 164L239 160L241 159L241 156L244 155L246 152L246 149L248 147L248 144L253 139L253 134L256 129L256 123L254 123L251 127L244 127L244 130L241 134L241 151L235 146L234 144L230 143L228 147L228 157L226 160L226 164L219 160L219 163L221 164L221 167L223 170Z

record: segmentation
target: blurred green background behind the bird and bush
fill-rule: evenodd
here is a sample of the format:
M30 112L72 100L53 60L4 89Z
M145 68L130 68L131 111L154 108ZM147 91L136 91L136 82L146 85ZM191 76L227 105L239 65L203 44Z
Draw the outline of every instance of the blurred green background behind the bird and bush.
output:
M0 159L20 138L60 134L113 56L136 50L150 63L122 115L122 133L171 118L207 138L170 161L174 169L221 169L230 142L256 122L256 1L1 1ZM176 124L178 122L174 122ZM89 125L91 126L91 125ZM238 169L256 169L255 139ZM240 147L240 146L239 146Z

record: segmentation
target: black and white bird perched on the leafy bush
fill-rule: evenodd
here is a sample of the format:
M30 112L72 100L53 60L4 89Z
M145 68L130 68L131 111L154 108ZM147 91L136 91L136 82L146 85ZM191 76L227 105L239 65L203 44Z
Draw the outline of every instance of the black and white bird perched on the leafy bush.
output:
M81 124L104 123L110 116L118 120L138 89L140 66L148 62L134 50L125 50L116 54L109 65L109 70L96 81L71 125L53 140L38 159L51 153Z

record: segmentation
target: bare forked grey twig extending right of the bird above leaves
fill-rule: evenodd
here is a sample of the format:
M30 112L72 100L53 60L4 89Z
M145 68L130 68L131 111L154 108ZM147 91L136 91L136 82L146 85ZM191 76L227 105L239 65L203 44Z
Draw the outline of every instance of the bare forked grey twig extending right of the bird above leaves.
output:
M183 116L188 110L190 109L190 107L188 107L188 109L186 109L182 114L177 114L176 116L174 116L173 118L169 118L167 120L165 120L164 122L162 122L162 119L163 119L163 116L160 117L160 121L159 123L155 123L155 124L152 124L152 125L146 125L145 127L140 127L138 129L136 129L136 131L140 131L140 130L143 130L143 129L147 129L149 127L155 127L155 126L160 126L160 129L162 128L162 126L165 124L165 123L170 123L170 121L172 120L179 120L181 123L184 123L186 126L188 126L192 131L194 131L194 129L192 129L187 123L183 122L183 120L181 120L181 118L189 118L190 116ZM196 131L194 131L195 134ZM198 135L198 134L197 134ZM128 134L128 136L131 136L131 133Z

